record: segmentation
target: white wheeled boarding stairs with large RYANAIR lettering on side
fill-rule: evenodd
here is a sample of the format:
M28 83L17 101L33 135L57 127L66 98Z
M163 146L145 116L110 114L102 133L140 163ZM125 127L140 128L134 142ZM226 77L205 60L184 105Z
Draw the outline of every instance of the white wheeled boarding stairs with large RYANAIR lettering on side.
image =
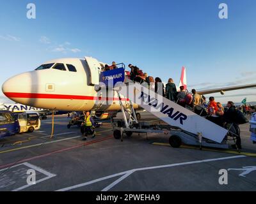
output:
M147 87L125 78L124 83L115 86L113 90L118 94L124 117L124 120L111 121L113 136L116 139L123 141L124 134L131 136L132 133L146 133L146 135L147 133L161 133L170 136L169 143L172 147L180 147L184 143L200 146L200 149L202 147L228 149L228 129L221 128L204 117L156 94ZM129 99L129 103L124 105L122 98ZM133 107L134 103L168 125L139 122ZM235 140L234 137L233 140Z

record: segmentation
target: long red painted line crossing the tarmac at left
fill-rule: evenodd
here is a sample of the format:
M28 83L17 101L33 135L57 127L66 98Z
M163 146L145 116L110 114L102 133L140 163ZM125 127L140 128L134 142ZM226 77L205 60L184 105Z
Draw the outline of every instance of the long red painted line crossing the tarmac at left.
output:
M15 164L19 164L19 163L24 163L24 162L28 162L28 161L31 161L33 159L40 159L42 157L47 157L47 156L51 156L52 154L56 154L56 153L61 153L61 152L65 152L65 151L68 151L68 150L72 150L72 149L76 149L78 147L84 147L84 146L87 146L87 145L92 145L93 143L98 143L98 142L103 142L105 140L109 140L113 138L112 135L109 135L109 136L106 136L105 138L101 138L99 140L93 140L91 142L85 142L85 143L81 143L79 145L75 145L75 146L72 146L72 147L67 147L67 148L64 148L64 149L59 149L59 150L55 150L53 152L49 152L49 153L46 153L46 154L41 154L41 155L38 155L38 156L35 156L35 157L30 157L28 159L22 159L20 161L17 161L17 162L14 162L14 163L10 163L10 164L3 164L2 166L0 166L0 169L1 168L8 168L10 166L13 166Z

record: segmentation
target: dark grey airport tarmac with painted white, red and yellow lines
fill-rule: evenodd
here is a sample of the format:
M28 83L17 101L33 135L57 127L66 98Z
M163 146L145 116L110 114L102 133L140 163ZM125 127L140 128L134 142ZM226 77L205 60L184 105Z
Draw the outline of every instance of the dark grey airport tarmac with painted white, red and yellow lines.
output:
M49 117L39 131L0 140L0 191L256 190L256 145L249 124L240 126L239 153L187 145L174 149L169 137L159 134L135 133L121 142L113 138L108 120L84 142L77 126L67 129L69 120L55 117L52 139ZM141 120L160 122L148 112L141 112ZM27 183L31 169L33 185ZM220 184L220 170L227 171L227 184Z

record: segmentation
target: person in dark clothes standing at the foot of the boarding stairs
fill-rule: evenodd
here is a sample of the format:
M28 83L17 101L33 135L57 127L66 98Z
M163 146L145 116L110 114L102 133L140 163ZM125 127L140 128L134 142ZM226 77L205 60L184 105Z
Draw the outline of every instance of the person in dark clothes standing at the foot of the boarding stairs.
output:
M230 125L230 127L232 129L230 129L230 131L232 131L236 137L236 145L232 145L233 149L242 149L241 146L241 138L240 138L240 129L239 129L239 125L236 122L236 118L237 118L237 110L236 110L236 106L234 106L234 103L232 101L228 101L227 103L227 107L228 110L224 113L224 121L227 122L228 124L232 124L232 127ZM237 146L237 148L236 148Z

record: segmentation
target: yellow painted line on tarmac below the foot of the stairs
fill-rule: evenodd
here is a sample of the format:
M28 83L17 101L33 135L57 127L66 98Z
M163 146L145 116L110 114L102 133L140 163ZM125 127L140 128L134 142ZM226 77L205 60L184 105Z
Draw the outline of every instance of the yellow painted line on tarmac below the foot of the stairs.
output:
M154 142L152 145L161 145L161 146L167 146L170 147L171 145L169 143L159 143L159 142ZM189 145L181 145L180 148L184 149L195 149L195 150L200 150L199 147L194 147L194 146L189 146ZM237 150L226 150L226 149L213 149L213 148L206 148L202 147L202 151L209 151L209 152L221 152L221 153L227 153L227 154L239 154L239 155L244 155L244 156L250 156L250 157L256 157L256 153L250 153L250 152L237 152Z

